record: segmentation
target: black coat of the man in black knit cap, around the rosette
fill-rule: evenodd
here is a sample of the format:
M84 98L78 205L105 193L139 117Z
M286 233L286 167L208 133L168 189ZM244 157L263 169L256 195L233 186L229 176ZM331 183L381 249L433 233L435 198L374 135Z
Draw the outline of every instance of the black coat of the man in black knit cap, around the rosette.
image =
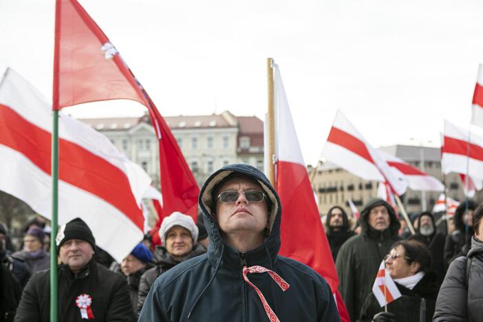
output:
M94 259L78 275L66 265L58 266L58 321L82 322L76 298L92 297L89 321L136 321L129 301L127 283L122 276L97 264ZM15 322L48 322L50 320L50 270L36 273L23 289Z

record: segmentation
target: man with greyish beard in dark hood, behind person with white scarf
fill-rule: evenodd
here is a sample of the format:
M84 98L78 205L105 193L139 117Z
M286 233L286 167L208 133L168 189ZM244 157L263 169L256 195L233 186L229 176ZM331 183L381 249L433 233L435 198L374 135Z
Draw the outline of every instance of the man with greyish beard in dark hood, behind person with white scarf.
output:
M434 217L428 211L423 211L418 216L418 228L416 228L416 235L409 237L409 239L416 239L423 244L426 244L431 253L431 270L436 272L438 283L442 282L444 274L446 274L444 264L444 235L436 231L434 224Z

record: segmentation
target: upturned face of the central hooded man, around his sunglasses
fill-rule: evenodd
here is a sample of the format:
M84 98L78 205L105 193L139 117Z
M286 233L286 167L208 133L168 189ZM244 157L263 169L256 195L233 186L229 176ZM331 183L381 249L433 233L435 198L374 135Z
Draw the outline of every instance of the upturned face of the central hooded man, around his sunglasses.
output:
M218 190L225 191L261 191L261 186L248 178L227 180ZM268 207L266 197L261 202L249 202L244 193L239 193L235 202L216 200L216 220L219 228L226 234L248 231L263 235L268 226Z

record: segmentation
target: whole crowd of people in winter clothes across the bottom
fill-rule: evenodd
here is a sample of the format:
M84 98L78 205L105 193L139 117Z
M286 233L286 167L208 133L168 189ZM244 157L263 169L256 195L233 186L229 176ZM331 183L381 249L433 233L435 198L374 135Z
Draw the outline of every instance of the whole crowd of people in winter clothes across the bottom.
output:
M0 225L0 322L50 321L51 256L58 321L340 321L325 279L278 255L283 209L261 171L219 169L199 204L196 223L172 213L120 263L80 218L59 230L54 250L39 219L19 251ZM367 202L358 220L330 208L323 224L351 321L480 321L482 217L483 206L462 202L442 231L425 211L412 235L384 200ZM401 294L387 307L372 292L382 261Z

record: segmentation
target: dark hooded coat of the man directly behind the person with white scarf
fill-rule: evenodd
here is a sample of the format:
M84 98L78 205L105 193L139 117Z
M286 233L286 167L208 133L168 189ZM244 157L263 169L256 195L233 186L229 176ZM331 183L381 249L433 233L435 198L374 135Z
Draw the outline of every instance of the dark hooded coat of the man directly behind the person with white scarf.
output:
M375 230L367 223L369 211L381 205L386 206L390 219L389 227L383 231ZM401 239L398 236L400 224L396 214L382 199L371 200L365 206L359 224L361 235L347 240L336 259L339 290L352 321L356 321L363 303L372 290L380 262L389 253L392 244Z

